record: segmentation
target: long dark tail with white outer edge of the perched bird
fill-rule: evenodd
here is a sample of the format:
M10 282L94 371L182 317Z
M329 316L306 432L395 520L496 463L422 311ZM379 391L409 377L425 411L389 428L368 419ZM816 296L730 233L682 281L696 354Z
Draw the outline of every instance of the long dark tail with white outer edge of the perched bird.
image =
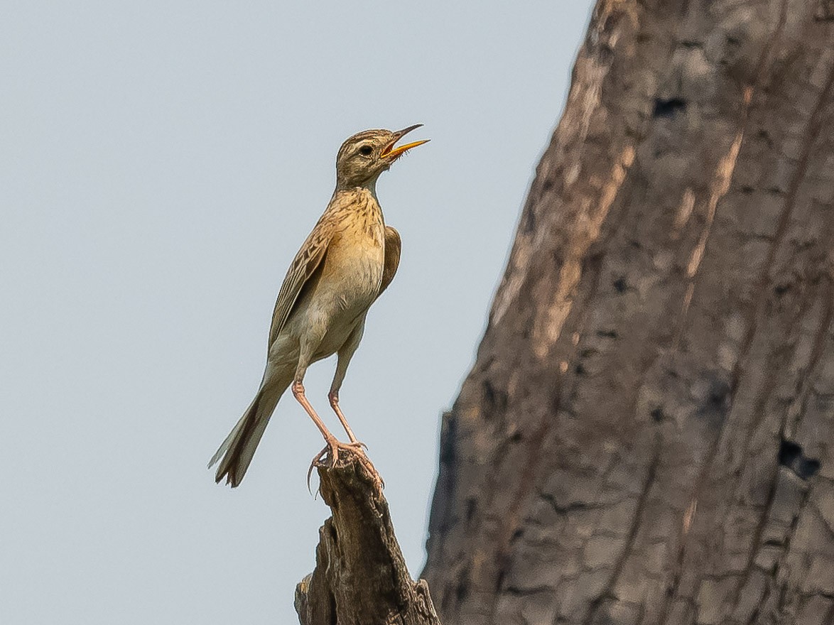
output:
M249 404L244 416L240 418L229 436L208 461L208 468L212 468L214 463L220 461L214 476L215 482L219 483L220 480L226 478L226 483L231 484L232 488L239 485L246 474L246 469L249 468L249 463L252 462L261 437L264 436L269 418L288 387L289 382L269 387L264 385L259 388L258 394Z

